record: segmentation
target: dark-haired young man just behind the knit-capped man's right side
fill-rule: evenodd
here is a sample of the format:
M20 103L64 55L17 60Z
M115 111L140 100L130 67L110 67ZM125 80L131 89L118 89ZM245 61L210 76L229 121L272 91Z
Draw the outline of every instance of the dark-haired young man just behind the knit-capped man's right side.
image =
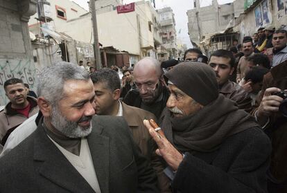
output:
M226 98L234 100L239 109L249 112L252 110L250 95L238 84L231 82L229 76L234 71L235 58L231 51L216 50L211 54L209 66L214 68L219 92Z

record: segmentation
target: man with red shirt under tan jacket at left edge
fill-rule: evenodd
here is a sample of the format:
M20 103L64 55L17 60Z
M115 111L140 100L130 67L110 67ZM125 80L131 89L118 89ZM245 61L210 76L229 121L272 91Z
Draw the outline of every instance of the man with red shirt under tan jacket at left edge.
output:
M37 101L28 95L28 89L22 80L11 78L4 82L6 96L10 100L0 111L0 140L4 145L8 136L16 127L39 110Z

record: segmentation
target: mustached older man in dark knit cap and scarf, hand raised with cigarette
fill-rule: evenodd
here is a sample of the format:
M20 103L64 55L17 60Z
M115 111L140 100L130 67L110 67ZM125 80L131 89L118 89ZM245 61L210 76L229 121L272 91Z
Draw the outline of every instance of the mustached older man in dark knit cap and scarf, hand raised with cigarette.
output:
M248 113L218 93L213 69L185 62L165 77L171 95L162 129L144 124L166 160L173 192L267 192L270 140Z

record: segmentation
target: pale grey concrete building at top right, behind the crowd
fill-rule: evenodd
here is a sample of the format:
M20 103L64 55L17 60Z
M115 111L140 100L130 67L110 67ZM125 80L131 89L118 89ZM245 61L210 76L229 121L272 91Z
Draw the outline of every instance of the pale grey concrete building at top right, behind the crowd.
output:
M215 33L223 33L233 26L234 17L243 12L244 0L218 5L217 0L211 6L200 8L200 1L193 0L194 8L186 12L189 23L189 37L193 46L199 46L202 40Z

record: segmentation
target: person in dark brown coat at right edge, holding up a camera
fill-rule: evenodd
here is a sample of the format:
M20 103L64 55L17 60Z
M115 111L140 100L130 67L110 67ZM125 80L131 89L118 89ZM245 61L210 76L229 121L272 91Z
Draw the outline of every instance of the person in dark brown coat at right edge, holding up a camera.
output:
M287 89L287 60L270 70L263 78L259 106L252 112L272 140L269 192L287 192L287 118L279 111L283 98L275 95Z

